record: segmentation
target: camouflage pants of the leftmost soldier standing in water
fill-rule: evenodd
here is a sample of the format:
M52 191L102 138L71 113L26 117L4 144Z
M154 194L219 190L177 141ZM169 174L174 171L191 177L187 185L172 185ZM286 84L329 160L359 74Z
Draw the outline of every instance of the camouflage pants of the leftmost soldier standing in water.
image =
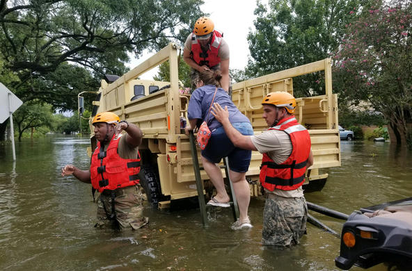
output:
M95 227L119 227L124 229L139 229L148 224L149 218L143 216L143 194L139 186L128 186L116 189L115 213L116 220L109 220L111 215L111 195L102 193L97 199L97 223ZM106 213L107 212L107 213Z

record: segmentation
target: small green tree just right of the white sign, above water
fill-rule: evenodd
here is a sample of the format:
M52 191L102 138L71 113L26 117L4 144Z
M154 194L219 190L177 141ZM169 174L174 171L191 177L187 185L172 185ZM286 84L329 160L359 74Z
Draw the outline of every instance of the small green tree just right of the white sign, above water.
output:
M24 103L13 114L13 122L19 131L19 141L22 141L23 132L40 126L50 126L52 120L52 106L41 101L33 100Z

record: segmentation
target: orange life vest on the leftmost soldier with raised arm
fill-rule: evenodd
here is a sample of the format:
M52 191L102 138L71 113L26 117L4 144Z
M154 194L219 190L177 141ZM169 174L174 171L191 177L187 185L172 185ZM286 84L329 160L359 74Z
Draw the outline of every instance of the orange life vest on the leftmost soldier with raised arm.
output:
M103 190L116 190L127 186L136 185L138 172L140 172L140 154L137 159L124 159L118 154L120 137L111 138L106 151L101 147L100 141L93 151L92 163L90 165L90 179L93 188L99 192Z

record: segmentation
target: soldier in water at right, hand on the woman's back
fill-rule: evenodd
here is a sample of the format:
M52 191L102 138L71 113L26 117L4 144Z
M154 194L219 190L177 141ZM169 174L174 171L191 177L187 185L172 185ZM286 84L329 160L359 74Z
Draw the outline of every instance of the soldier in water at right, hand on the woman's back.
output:
M266 202L262 244L299 244L306 232L308 207L303 196L305 172L313 164L308 130L294 117L296 100L287 92L271 92L262 101L263 118L269 129L243 136L230 124L227 108L214 104L212 114L221 122L236 147L263 154L260 183Z

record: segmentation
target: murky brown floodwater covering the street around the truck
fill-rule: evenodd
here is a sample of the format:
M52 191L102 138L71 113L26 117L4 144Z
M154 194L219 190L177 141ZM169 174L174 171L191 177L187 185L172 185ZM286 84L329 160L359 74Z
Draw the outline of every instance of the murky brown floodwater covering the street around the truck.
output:
M340 240L308 224L292 249L260 245L264 201L252 199L253 229L232 231L230 210L154 211L140 231L95 229L90 185L62 178L66 163L86 168L87 138L49 137L0 145L0 270L338 270ZM355 209L411 197L412 153L389 143L342 142L342 167L329 170L309 202L350 214ZM340 232L342 222L312 215ZM361 270L361 268L352 268ZM372 270L386 270L379 265Z

